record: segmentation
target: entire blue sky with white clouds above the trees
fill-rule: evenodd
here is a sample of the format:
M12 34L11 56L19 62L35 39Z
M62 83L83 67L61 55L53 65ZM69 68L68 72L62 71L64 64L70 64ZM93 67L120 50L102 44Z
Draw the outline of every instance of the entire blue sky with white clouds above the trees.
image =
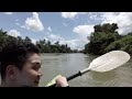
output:
M132 12L0 12L0 29L11 36L29 36L52 44L67 44L72 50L84 50L94 26L118 23L118 32L132 32Z

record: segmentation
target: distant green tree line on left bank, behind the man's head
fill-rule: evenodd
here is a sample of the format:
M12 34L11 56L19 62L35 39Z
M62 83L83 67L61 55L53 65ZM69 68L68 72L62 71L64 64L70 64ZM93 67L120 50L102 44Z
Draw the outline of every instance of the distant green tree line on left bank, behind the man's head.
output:
M11 41L18 41L18 42L32 42L29 36L25 36L25 38L22 38L21 36L13 37L7 34L7 32L3 32L3 30L0 30L0 50L7 44L7 42ZM67 44L59 44L57 41L54 44L51 44L50 41L40 40L36 42L36 46L40 47L41 53L77 53L77 50L70 50L70 47L67 46Z

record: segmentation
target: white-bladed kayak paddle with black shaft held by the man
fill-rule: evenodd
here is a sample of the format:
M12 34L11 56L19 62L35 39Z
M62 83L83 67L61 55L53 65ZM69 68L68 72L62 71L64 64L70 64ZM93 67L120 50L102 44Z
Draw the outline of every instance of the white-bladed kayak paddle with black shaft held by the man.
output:
M106 53L97 58L95 58L88 68L82 69L80 72L78 72L77 74L69 76L67 78L67 81L76 78L78 76L81 76L90 70L94 72L108 72L108 70L112 70L121 65L123 65L124 63L127 63L130 59L130 55L127 52L123 51L111 51L109 53ZM48 87L55 87L56 84L48 86Z

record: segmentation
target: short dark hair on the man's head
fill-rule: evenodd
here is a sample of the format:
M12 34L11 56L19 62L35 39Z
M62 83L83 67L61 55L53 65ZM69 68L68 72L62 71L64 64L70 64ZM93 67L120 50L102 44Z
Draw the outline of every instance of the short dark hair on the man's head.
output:
M24 41L8 42L0 51L1 78L4 78L8 65L14 65L21 70L29 58L28 55L32 53L40 53L38 47L33 43Z

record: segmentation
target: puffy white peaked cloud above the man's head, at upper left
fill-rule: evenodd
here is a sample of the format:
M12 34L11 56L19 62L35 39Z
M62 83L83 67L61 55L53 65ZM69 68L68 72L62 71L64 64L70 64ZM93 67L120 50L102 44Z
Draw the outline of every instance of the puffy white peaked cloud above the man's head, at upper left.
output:
M36 12L33 12L33 16L28 18L25 20L25 25L22 28L25 28L28 30L32 30L34 32L44 30L44 26L43 26L43 24L38 18L38 14Z

